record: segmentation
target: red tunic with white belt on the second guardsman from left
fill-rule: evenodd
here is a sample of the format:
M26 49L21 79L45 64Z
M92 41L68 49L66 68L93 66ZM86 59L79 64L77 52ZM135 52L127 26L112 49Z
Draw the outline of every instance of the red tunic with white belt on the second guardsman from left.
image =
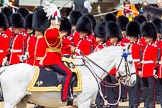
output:
M10 60L9 64L17 64L20 63L19 56L23 54L25 48L25 33L19 33L17 35L12 35L12 47L10 50Z

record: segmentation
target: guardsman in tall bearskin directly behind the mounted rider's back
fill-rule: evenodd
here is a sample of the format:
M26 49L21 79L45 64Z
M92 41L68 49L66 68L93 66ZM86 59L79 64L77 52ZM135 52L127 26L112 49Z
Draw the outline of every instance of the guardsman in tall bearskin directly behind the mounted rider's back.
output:
M46 13L42 8L37 8L33 13L32 28L35 30L36 43L34 50L34 64L35 66L42 66L43 57L46 54L46 41L44 32L49 26ZM32 57L31 57L32 58Z

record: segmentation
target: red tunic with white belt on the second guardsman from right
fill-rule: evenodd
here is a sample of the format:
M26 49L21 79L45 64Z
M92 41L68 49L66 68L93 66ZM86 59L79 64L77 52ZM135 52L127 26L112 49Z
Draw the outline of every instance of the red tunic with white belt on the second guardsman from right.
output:
M141 77L152 77L157 58L157 47L154 44L147 44L143 50L143 64Z

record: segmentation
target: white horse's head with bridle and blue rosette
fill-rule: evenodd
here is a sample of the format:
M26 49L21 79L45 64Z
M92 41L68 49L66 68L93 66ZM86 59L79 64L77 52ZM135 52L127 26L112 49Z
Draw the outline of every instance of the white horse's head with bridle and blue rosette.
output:
M116 69L121 83L134 86L136 83L136 69L130 52L130 45L123 49L122 55L117 58Z

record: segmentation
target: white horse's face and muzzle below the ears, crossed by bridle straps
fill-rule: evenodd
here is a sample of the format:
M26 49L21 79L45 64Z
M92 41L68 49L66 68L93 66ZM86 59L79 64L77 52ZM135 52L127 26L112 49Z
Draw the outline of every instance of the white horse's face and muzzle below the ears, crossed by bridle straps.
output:
M124 57L122 58L121 56L120 59L118 59L117 67L118 66L119 66L118 73L120 75L120 78L122 79L121 82L127 86L134 86L136 84L136 74L135 74L136 69L135 69L132 55L129 54L126 57L126 60Z

